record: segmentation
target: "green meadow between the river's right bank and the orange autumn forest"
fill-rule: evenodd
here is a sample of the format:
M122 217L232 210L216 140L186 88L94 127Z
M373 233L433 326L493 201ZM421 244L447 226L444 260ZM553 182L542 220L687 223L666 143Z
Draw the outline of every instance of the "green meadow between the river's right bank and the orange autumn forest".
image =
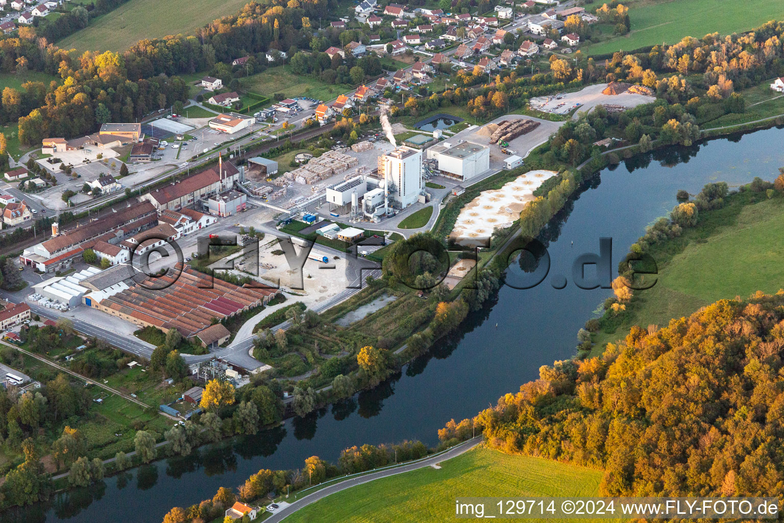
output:
M629 318L615 332L594 335L593 350L626 336L631 325L664 326L723 298L778 291L784 287L784 246L777 240L782 226L784 198L713 212L707 223L652 254L659 265L656 284L637 292Z

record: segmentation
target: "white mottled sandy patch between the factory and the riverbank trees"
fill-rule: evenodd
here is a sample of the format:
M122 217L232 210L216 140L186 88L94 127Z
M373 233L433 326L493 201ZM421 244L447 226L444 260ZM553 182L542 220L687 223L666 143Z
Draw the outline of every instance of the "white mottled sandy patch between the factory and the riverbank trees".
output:
M500 189L482 192L460 211L450 238L459 245L487 245L492 232L510 227L525 204L534 199L533 192L555 175L555 171L529 171Z

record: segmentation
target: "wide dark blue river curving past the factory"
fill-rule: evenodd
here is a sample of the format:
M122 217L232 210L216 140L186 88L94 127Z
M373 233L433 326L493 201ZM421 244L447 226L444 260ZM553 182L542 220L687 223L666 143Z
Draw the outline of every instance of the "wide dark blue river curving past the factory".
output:
M253 437L9 510L2 521L158 523L171 507L211 498L218 487L240 485L261 468L298 468L313 455L334 461L342 449L363 443L420 439L435 445L437 430L450 418L474 415L537 378L541 365L575 353L578 329L611 293L574 285L576 256L599 252L599 238L610 237L615 274L644 227L676 204L677 190L695 194L705 183L726 181L732 187L754 176L773 180L784 165L784 148L775 146L782 138L784 130L768 129L670 147L604 169L543 234L552 264L546 281L528 290L503 286L484 310L466 319L461 332L376 389ZM508 273L511 282L521 271L513 265ZM554 274L568 278L564 289L550 285Z

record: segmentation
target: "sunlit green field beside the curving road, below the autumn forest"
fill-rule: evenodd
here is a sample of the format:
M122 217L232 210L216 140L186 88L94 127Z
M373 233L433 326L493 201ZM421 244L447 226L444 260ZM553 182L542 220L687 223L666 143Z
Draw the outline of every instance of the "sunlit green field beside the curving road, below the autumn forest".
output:
M286 521L451 521L458 496L597 496L602 477L601 470L510 456L483 447L440 464L441 469L425 467L337 492L296 511Z

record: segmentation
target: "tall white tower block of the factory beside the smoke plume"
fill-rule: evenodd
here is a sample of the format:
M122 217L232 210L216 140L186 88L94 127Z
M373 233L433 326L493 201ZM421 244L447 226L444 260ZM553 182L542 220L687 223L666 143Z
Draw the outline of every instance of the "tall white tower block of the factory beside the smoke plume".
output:
M405 208L416 203L423 189L422 151L404 146L379 156L379 178L384 180L387 197L395 206Z

